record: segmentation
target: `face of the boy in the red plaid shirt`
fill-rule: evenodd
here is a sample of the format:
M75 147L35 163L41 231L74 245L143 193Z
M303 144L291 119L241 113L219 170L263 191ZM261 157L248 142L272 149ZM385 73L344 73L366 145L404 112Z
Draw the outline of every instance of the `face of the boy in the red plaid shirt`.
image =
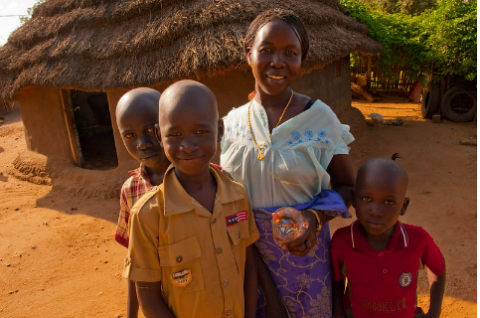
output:
M117 118L118 130L130 155L149 168L165 160L160 142L155 136L158 113L148 107L131 107Z

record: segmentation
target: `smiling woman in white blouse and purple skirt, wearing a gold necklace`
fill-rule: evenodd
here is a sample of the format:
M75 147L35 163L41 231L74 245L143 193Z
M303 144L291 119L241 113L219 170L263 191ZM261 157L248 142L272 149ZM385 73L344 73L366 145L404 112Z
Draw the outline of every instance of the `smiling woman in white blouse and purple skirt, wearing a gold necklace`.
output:
M290 88L308 47L305 27L290 11L266 11L250 24L244 52L255 97L224 118L221 165L250 195L261 232L256 246L274 282L260 273L265 310L276 286L291 317L331 317L327 222L351 217L344 202L350 205L354 185L347 146L354 138L330 107ZM283 206L301 210L309 224L284 246L288 251L272 238L271 214Z

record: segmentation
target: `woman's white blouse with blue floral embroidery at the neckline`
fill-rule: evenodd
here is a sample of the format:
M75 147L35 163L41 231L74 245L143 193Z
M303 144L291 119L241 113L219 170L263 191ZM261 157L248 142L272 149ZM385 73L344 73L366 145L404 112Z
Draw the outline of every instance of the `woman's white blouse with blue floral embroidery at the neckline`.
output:
M248 129L247 110L248 103L224 117L220 164L245 186L252 208L301 204L328 188L328 164L334 155L348 154L347 145L355 140L328 105L317 100L275 128L261 161ZM270 134L265 109L253 101L250 116L255 140L263 145Z

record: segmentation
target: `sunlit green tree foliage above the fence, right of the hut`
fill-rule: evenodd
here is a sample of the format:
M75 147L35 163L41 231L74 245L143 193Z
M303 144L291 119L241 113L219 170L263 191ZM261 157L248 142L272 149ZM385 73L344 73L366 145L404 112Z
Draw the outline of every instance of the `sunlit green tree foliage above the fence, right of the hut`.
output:
M476 0L438 0L431 9L411 14L385 12L387 2L413 0L340 0L351 17L368 26L368 35L385 47L380 56L384 76L393 75L395 65L412 78L432 66L443 75L476 78Z

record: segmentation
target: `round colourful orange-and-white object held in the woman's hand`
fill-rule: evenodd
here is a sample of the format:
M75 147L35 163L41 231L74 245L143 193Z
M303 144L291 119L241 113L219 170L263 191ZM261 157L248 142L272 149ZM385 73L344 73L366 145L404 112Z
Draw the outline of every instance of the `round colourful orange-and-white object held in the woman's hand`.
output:
M295 240L306 228L302 213L294 208L280 208L272 215L272 234L278 245Z

